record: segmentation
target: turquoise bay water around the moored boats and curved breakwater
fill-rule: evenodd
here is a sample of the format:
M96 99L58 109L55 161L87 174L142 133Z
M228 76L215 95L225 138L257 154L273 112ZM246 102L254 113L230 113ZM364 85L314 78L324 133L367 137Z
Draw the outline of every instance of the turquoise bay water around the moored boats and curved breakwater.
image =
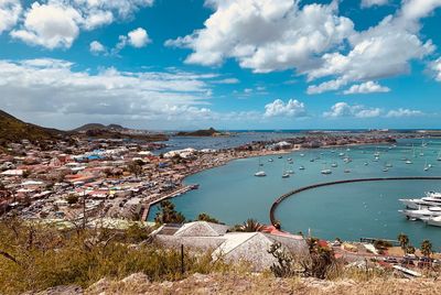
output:
M412 155L411 143L416 146ZM233 161L229 164L204 171L186 178L186 183L200 184L198 190L173 199L178 210L189 219L200 212L207 212L228 225L239 223L247 218L256 218L269 223L269 208L280 195L315 183L390 176L439 176L441 162L437 161L441 141L431 141L428 148L421 148L418 140L402 140L398 146L389 145L352 146L346 149L318 149L293 152L283 155L261 157L262 170L267 177L255 177L258 159ZM378 162L373 162L375 151L380 152ZM338 153L344 152L353 162L344 163ZM424 155L419 155L423 152ZM303 153L304 156L300 154ZM292 157L293 165L287 164ZM310 162L311 159L318 159ZM402 157L413 164L406 164ZM273 162L268 162L273 159ZM331 167L336 162L338 167ZM365 166L364 163L368 162ZM423 171L426 162L433 167ZM383 172L386 163L392 164L389 172ZM299 166L303 165L304 171ZM295 172L290 178L281 178L284 166ZM322 175L322 168L331 168L331 175ZM351 173L344 173L351 170ZM378 183L356 183L321 187L298 194L284 200L276 211L276 218L284 230L291 232L311 230L313 236L325 239L336 237L345 240L358 240L361 237L396 239L405 232L415 245L423 239L441 247L441 228L426 226L419 221L408 221L398 209L402 197L419 197L427 190L440 190L440 181L391 181ZM151 211L153 218L155 208Z

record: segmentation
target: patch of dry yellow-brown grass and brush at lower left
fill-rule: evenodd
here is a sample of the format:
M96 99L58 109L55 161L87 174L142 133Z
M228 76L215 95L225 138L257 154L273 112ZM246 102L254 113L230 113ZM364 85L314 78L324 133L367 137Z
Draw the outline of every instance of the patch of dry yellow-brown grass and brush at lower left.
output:
M122 278L142 272L152 281L180 280L192 273L228 267L212 263L209 253L164 250L148 242L148 229L136 225L125 231L58 230L25 225L17 219L0 222L0 294L76 284L86 287L101 277Z

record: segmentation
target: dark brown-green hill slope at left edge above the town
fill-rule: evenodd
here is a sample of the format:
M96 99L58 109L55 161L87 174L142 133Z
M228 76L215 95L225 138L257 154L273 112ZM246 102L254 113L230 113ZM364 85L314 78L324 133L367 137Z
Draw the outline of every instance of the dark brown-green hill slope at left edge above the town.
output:
M23 122L0 110L0 145L20 140L53 140L64 134L64 131L49 129Z

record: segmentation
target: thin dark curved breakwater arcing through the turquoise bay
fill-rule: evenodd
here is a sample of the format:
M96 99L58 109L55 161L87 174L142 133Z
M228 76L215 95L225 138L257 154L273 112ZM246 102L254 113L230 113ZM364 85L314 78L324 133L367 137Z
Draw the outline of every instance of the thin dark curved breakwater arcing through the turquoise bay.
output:
M327 182L327 183L320 183L320 184L303 186L298 189L291 190L287 194L283 194L282 196L280 196L272 203L270 211L269 211L269 218L270 218L271 225L277 226L277 223L278 223L278 221L276 219L277 207L284 199L287 199L293 195L297 195L301 192L310 190L310 189L318 188L318 187L340 185L340 184L366 183L366 182L388 182L388 181L441 181L441 176L402 176L402 177L356 178L356 179L335 181L335 182Z

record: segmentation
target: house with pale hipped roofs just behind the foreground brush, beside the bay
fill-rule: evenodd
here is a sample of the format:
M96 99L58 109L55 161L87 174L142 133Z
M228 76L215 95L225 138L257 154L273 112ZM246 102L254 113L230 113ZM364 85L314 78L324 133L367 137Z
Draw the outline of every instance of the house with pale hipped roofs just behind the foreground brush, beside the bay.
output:
M185 225L164 225L153 232L155 241L164 247L181 247L190 250L212 250L213 260L229 262L247 261L255 271L266 270L277 260L268 253L271 244L280 242L292 253L308 253L301 236L286 232L228 232L229 227L206 221Z

